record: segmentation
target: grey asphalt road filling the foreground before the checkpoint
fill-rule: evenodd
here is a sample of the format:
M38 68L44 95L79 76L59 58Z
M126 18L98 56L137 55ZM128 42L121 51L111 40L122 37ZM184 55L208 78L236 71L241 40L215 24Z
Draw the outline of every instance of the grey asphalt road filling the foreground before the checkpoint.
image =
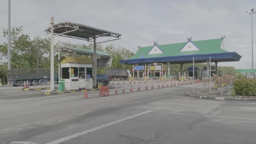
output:
M0 143L256 143L254 101L187 97L191 85L89 99L14 89L0 88Z

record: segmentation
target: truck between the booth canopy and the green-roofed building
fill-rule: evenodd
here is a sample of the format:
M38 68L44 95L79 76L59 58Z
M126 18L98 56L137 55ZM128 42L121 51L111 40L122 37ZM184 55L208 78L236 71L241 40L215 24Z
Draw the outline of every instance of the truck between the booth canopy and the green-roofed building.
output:
M131 77L129 69L105 69L105 74L108 75L110 80L128 80Z

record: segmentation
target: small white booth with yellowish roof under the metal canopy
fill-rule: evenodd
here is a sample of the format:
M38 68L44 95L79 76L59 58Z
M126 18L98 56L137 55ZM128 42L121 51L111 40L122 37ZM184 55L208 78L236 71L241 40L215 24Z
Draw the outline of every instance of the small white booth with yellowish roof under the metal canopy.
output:
M92 88L92 60L84 57L61 57L61 79L65 90Z

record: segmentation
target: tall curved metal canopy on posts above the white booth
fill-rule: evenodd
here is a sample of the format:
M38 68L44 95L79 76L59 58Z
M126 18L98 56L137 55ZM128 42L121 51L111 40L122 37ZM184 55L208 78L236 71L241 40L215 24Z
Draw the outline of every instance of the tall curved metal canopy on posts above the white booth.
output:
M60 22L54 24L54 18L51 17L51 26L45 30L47 34L51 34L51 89L54 89L54 36L60 35L62 37L74 38L94 42L93 50L93 85L96 87L96 44L104 43L107 41L118 40L121 34L106 31L104 29L90 27L74 22ZM113 37L116 39L101 41L96 43L96 38L99 37ZM91 53L92 54L92 53Z

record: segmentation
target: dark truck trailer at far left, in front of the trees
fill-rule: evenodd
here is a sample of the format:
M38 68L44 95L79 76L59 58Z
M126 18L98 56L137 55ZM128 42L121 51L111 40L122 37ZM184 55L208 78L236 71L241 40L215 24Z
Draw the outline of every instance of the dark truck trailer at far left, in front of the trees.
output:
M23 86L24 81L28 81L28 85L42 85L50 80L50 69L11 69L7 80L11 86Z

